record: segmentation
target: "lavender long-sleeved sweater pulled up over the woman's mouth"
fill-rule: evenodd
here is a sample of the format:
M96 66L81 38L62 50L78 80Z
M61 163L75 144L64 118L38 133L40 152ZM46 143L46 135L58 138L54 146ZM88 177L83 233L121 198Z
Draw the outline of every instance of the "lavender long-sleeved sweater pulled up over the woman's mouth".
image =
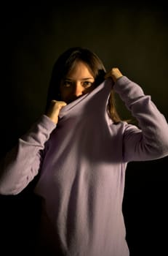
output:
M127 163L168 155L168 125L151 97L127 77L114 84L140 128L113 124L111 79L60 111L41 116L4 159L0 192L21 192L40 172L39 248L47 255L128 256L122 214ZM37 250L38 250L37 249ZM37 253L38 255L38 253Z

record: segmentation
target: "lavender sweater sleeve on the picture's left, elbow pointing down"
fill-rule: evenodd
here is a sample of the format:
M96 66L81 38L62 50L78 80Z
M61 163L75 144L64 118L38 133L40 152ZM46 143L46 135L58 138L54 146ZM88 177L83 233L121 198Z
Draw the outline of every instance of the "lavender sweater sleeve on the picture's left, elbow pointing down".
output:
M1 195L18 194L39 173L44 145L55 127L47 116L41 116L1 159Z

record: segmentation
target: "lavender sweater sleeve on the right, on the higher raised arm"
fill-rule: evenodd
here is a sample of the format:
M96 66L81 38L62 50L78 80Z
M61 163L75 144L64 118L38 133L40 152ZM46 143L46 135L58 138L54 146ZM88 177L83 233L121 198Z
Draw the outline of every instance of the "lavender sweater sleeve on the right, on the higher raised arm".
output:
M127 124L124 129L124 161L145 161L168 155L168 124L164 115L145 95L143 89L123 76L114 90L138 121L138 128Z

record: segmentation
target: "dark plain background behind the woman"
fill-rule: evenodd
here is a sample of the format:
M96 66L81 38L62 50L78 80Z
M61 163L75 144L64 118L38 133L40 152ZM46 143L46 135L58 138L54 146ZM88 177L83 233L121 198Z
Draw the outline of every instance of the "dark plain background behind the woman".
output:
M44 113L52 65L71 46L95 51L106 69L119 67L151 94L168 120L166 3L24 1L1 5L0 12L1 156ZM120 99L117 105L121 117L128 118ZM130 256L167 252L167 163L165 157L127 167L123 211ZM33 249L39 200L30 191L31 186L20 195L0 197L4 255L11 249L29 255Z

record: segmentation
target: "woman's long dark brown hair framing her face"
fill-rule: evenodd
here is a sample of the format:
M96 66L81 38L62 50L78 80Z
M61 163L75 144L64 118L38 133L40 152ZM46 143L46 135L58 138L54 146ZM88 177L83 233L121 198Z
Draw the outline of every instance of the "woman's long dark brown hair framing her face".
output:
M76 61L82 61L87 64L89 71L95 78L95 86L100 85L105 80L105 67L99 57L87 48L73 47L66 50L60 55L55 62L52 75L49 82L49 89L47 94L46 110L49 108L49 104L52 99L60 99L60 83L68 72L73 69ZM108 113L115 124L121 121L119 114L116 111L114 91L111 90L111 94L108 100Z

